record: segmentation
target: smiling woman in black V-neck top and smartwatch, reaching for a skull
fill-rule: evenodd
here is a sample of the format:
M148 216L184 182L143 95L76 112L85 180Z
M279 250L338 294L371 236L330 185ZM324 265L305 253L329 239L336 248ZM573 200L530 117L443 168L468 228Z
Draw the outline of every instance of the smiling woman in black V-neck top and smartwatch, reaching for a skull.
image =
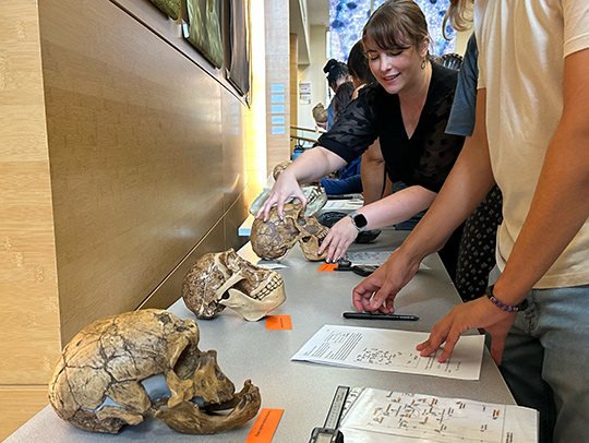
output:
M444 133L457 71L432 63L429 44L425 16L412 0L386 1L372 14L362 45L376 83L363 87L316 146L280 175L257 217L267 218L273 205L281 215L289 196L305 203L299 183L339 169L376 139L389 177L407 188L341 220L346 229L330 231L321 247L327 261L339 260L358 232L395 225L431 205L464 137Z

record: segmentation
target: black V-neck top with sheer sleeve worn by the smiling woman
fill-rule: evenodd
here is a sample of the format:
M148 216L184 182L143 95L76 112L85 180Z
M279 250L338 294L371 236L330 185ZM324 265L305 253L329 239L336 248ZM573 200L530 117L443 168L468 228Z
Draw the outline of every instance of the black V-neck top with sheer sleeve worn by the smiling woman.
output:
M399 97L378 83L360 89L333 128L316 145L350 163L377 137L393 181L438 192L462 147L464 137L444 132L458 71L432 63L425 105L411 139L402 124Z

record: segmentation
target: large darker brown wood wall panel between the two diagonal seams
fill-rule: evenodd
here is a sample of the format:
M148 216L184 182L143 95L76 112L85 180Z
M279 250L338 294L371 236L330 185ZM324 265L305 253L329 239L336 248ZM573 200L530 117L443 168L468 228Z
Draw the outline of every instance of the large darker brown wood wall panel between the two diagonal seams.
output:
M135 309L223 216L220 86L109 1L39 11L67 343Z

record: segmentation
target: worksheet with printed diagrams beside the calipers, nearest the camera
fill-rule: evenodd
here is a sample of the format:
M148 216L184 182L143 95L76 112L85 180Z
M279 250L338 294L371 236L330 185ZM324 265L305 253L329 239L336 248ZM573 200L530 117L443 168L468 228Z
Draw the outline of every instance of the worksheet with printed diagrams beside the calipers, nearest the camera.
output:
M372 388L357 396L341 428L419 441L480 443L534 442L538 432L533 409Z

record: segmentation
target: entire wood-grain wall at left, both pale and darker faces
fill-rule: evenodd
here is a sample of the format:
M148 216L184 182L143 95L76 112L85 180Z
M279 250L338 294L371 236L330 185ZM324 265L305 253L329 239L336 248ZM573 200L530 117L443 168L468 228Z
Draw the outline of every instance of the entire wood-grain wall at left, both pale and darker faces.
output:
M2 3L0 440L77 331L243 243L248 112L147 1Z

